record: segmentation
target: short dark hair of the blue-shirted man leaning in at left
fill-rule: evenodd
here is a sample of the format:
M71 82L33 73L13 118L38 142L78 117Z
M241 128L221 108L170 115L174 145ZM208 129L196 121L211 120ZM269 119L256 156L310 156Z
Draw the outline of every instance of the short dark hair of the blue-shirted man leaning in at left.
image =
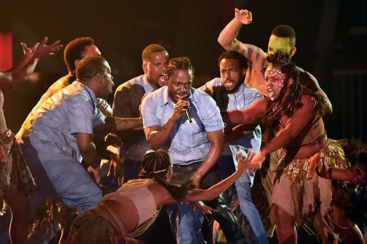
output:
M107 60L101 56L83 58L76 67L76 79L83 82L96 74L103 73L106 69Z

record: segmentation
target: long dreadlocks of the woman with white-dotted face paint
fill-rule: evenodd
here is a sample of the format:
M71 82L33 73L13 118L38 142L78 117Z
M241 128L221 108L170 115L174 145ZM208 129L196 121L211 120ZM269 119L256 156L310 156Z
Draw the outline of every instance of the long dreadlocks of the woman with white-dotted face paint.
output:
M280 90L280 94L275 100L267 99L266 111L259 118L259 122L265 126L265 141L270 141L275 136L275 131L279 129L279 120L282 115L291 117L294 112L294 108L301 108L303 106L301 98L304 94L309 94L314 97L316 101L315 109L321 112L321 99L316 96L314 92L305 88L299 83L299 70L295 66L295 63L291 62L291 56L283 51L277 51L266 57L269 64L274 67L280 67L282 73L286 74L284 79L284 86ZM264 72L266 67L262 69ZM292 78L293 84L290 87L289 95L284 99L283 97L287 91L287 82Z

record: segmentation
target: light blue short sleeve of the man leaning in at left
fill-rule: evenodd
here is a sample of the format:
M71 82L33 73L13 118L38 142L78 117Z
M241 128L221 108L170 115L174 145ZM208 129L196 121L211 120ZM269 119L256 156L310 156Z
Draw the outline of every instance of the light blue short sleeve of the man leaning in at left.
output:
M93 127L103 117L99 111L99 118L94 116L94 108L91 100L87 96L80 94L79 96L65 97L62 101L66 111L66 116L70 123L70 132L93 134ZM103 121L102 121L103 122Z

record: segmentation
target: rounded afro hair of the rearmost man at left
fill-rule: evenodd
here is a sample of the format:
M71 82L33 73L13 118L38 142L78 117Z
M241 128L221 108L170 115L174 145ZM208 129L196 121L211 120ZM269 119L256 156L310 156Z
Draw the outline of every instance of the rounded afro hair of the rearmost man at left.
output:
M66 45L64 50L64 61L69 72L75 72L75 60L82 59L86 52L86 47L94 45L94 40L90 37L76 38Z

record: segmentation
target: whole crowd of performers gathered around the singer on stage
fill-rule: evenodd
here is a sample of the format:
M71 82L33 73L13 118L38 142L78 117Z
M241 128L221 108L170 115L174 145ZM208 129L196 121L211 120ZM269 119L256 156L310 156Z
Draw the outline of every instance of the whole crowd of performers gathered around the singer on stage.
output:
M264 52L236 39L251 22L235 10L218 37L220 77L197 89L188 58L149 45L144 74L117 88L112 108L107 60L91 38L70 41L69 74L16 135L0 110L0 243L47 243L58 228L59 243L150 243L163 214L180 244L268 243L274 227L279 243L297 243L296 226L323 243L363 243L366 147L327 138L331 103L291 62L292 27L276 26ZM0 85L24 83L62 48L47 41L22 43Z

